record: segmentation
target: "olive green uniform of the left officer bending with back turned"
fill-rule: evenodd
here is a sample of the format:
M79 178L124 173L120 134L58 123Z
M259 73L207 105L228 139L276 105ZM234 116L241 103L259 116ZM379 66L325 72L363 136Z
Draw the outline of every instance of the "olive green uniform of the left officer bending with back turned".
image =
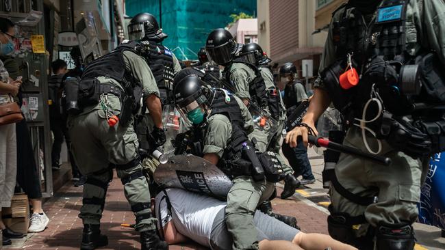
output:
M131 51L125 51L123 54L126 66L142 83L144 94L159 96L159 89L144 58ZM122 89L114 79L97 77L97 80L101 84L116 85ZM107 94L105 103L114 115L120 113L118 97ZM128 126L120 126L120 123L109 126L99 102L98 105L86 107L79 115L68 117L68 129L79 171L88 177L84 184L84 204L79 214L84 224L100 224L107 182L112 180L112 169L109 166L117 165L118 177L123 183L126 182L125 197L132 210L136 211L136 230L154 230L156 219L149 217L149 186L144 176L138 174L141 173L142 167L138 160L138 139L134 133L133 120Z

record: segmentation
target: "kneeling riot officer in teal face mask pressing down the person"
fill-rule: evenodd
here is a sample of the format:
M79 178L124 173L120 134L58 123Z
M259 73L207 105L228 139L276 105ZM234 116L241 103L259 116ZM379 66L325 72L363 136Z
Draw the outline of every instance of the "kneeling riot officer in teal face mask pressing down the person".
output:
M175 81L174 93L179 113L193 124L193 134L188 137L192 154L217 165L233 179L225 210L233 249L257 249L252 215L272 195L274 184L259 173L261 169L256 171L257 154L247 137L253 130L249 111L240 98L225 89L205 86L197 75Z

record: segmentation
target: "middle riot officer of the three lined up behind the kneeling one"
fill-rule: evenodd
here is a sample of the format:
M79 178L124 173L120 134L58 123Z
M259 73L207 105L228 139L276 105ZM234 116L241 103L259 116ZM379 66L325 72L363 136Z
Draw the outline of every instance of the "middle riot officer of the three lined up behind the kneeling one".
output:
M275 87L273 81L273 74L268 64L270 63L270 59L265 55L263 49L258 44L252 42L249 44L244 44L240 51L240 55L244 61L249 62L258 67L259 72L264 79L264 83L266 84L266 91L268 94L268 108L272 117L274 117L278 123L278 129L276 135L272 137L271 143L268 147L272 152L275 152L275 155L279 159L281 165L283 166L284 176L285 176L285 186L283 189L283 193L281 193L281 198L285 199L294 195L295 189L300 186L298 180L294 176L292 176L292 168L289 167L283 157L281 157L280 149L281 149L281 137L282 130L285 123L286 115L285 115L285 107L283 104L283 100L281 98L281 94L277 87Z

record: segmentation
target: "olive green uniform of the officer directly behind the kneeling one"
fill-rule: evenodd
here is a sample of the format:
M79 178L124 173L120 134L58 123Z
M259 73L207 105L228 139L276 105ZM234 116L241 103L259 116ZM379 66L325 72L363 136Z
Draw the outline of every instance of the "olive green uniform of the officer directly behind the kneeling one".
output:
M252 100L249 94L249 83L255 79L255 72L246 64L233 63L230 70L230 82L235 87L235 94L241 99ZM273 85L273 82L272 82ZM266 89L267 89L266 85ZM268 112L268 108L265 110ZM266 125L264 128L255 126L253 132L249 135L249 139L257 139L256 148L259 152L265 152L270 141L270 127Z

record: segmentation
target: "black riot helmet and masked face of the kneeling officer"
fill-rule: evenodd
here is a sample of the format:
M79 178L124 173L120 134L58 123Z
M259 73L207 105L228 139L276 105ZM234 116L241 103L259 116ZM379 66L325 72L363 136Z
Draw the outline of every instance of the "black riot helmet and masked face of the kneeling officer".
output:
M177 79L173 85L176 109L194 125L204 122L207 115L207 97L210 90L196 74Z

